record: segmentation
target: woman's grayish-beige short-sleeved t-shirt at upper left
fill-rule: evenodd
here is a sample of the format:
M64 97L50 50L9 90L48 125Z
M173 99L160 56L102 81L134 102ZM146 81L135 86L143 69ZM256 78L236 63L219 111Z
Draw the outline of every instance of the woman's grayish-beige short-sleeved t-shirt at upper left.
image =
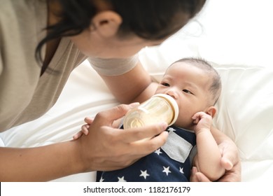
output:
M62 38L49 64L50 71L40 77L36 45L45 36L45 0L1 0L0 6L0 132L42 116L57 101L71 71L87 57L69 38ZM45 55L43 48L42 55ZM135 66L136 58L90 59L101 74L125 73ZM100 64L103 69L100 69ZM123 64L120 69L115 69ZM98 70L99 69L99 70ZM118 71L115 71L118 70ZM92 78L90 78L92 79Z

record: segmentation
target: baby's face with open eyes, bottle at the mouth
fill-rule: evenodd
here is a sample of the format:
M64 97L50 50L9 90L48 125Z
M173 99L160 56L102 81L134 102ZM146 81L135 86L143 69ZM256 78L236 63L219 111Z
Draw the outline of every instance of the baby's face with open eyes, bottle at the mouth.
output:
M211 78L204 70L189 62L176 62L167 69L155 93L172 96L179 105L179 117L174 125L192 129L193 115L209 108L210 85Z

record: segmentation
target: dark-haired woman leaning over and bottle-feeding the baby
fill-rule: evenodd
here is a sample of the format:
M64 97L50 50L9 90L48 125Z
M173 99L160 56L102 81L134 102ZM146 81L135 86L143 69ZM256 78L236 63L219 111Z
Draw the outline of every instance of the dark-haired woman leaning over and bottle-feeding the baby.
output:
M120 102L150 97L147 92L153 92L156 84L134 54L181 29L203 4L201 0L1 0L0 131L48 111L71 71L87 57ZM0 148L0 180L48 181L132 164L167 139L165 124L127 132L111 127L132 106L98 113L90 134L77 141ZM224 156L237 156L230 140L221 138L218 144L230 146Z

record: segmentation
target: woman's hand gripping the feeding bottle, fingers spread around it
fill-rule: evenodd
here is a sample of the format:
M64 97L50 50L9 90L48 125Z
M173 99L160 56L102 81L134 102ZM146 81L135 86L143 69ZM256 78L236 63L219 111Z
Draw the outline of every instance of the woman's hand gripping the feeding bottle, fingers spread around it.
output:
M165 144L168 135L166 123L128 130L113 127L113 121L123 117L134 106L122 104L98 113L89 125L89 133L73 141L77 143L78 158L83 162L84 172L127 167ZM143 140L145 138L151 139Z

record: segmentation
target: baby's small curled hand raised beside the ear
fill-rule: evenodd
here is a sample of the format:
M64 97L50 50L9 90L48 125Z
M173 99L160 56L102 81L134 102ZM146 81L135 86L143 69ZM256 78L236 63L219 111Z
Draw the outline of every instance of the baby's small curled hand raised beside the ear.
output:
M199 132L202 129L211 129L212 117L202 111L195 113L192 117L193 124L196 125L195 132Z

